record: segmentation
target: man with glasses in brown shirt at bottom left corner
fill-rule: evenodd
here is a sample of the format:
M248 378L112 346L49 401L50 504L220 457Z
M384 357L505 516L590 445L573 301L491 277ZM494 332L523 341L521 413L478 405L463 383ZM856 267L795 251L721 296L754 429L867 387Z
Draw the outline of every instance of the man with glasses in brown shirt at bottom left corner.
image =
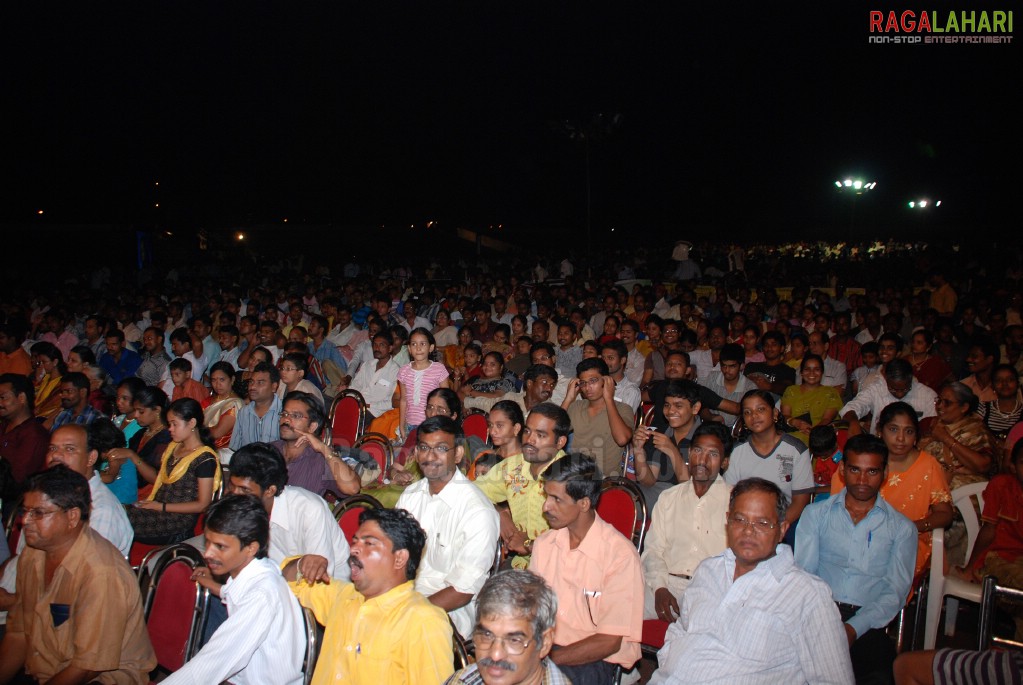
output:
M0 682L24 668L43 683L147 683L157 657L138 582L89 526L89 482L53 466L28 480L21 506L28 548L0 645Z

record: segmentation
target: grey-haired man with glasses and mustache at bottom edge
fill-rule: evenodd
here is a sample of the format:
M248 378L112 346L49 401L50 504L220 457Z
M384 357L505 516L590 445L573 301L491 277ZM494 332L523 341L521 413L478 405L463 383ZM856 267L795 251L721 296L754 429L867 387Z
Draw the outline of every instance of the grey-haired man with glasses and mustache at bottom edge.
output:
M558 596L542 578L515 568L496 574L477 598L476 664L445 685L569 685L547 658L557 616Z

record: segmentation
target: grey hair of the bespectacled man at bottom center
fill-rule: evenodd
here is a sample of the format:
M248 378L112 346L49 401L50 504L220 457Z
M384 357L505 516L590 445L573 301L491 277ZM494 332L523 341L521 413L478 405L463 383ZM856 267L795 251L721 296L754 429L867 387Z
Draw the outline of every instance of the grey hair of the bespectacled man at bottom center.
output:
M514 616L533 626L533 639L554 627L558 595L542 578L525 568L508 568L490 577L476 599L476 623L484 619Z

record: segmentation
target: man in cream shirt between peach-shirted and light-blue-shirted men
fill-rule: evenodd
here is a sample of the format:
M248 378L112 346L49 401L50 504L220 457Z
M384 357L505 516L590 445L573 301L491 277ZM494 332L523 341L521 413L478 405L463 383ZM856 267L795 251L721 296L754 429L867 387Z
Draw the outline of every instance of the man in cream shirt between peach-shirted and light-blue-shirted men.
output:
M704 423L688 447L690 478L666 490L654 506L643 544L643 619L673 622L693 574L727 546L724 519L731 486L721 476L732 440L722 423Z

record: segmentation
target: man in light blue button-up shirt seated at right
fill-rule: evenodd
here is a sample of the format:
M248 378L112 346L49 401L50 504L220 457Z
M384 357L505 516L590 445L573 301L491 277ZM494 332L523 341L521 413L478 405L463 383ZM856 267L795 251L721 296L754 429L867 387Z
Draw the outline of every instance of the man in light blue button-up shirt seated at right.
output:
M850 438L841 468L845 489L803 510L796 563L831 587L856 682L890 683L895 645L885 627L909 596L917 528L879 496L888 470L880 438Z

